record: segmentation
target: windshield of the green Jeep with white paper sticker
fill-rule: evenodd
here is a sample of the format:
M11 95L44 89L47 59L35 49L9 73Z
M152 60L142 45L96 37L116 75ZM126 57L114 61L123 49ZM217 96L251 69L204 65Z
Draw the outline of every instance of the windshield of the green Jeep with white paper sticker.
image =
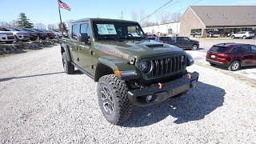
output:
M138 23L93 22L95 38L98 40L142 40L145 34Z

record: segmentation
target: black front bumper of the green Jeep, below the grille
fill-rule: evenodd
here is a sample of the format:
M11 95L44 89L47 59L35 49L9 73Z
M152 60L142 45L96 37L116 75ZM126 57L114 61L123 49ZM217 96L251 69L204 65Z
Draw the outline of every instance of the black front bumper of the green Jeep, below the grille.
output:
M158 84L153 84L142 89L129 90L128 98L130 102L136 106L148 106L158 102L163 102L167 98L181 94L182 92L196 86L199 74L194 72L191 73L191 76L191 78L188 78L187 74L185 74L182 78L163 83L162 90L159 89ZM147 100L148 96L151 97L150 101Z

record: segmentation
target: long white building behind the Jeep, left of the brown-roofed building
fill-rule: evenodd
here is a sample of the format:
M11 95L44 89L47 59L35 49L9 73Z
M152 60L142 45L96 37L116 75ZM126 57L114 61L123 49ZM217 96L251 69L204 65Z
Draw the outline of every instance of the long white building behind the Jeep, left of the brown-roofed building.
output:
M160 35L176 35L179 34L180 22L172 22L157 26L142 27L143 31L148 34Z

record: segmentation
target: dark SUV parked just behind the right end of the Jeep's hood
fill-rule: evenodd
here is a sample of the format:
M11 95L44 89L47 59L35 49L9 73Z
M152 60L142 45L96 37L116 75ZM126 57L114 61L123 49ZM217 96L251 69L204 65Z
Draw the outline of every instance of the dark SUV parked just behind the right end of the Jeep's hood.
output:
M178 46L184 50L186 49L198 50L199 48L198 41L194 41L186 37L158 37L157 41Z

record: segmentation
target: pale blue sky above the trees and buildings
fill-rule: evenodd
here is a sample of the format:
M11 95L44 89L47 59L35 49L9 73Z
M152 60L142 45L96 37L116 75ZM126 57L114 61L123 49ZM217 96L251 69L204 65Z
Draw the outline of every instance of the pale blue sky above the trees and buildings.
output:
M26 13L32 22L44 24L59 22L57 0L1 0L0 21L10 22L18 14ZM62 10L62 20L80 18L120 18L131 20L132 11L150 14L169 0L62 0L71 11ZM256 0L173 0L166 12L183 12L190 5L256 5ZM151 18L154 19L154 16Z

